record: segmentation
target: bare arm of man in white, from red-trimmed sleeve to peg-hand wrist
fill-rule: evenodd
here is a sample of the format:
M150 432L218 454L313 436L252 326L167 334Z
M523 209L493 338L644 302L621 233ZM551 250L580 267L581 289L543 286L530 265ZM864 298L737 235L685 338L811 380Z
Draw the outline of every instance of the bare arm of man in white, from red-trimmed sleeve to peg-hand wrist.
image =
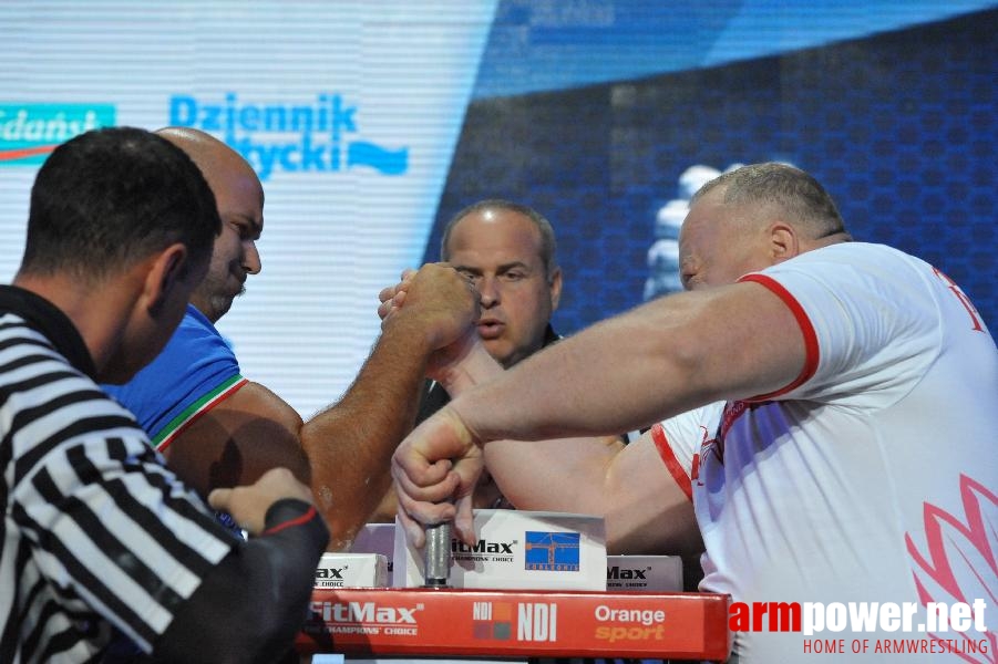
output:
M480 440L611 435L783 387L803 357L790 310L762 287L735 284L598 323L450 407Z

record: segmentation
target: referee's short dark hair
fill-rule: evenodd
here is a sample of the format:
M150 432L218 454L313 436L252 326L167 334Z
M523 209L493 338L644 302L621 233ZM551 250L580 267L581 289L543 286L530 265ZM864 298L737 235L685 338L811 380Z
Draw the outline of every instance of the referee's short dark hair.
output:
M91 283L175 242L196 262L220 229L215 196L182 149L145 129L93 129L39 170L20 271Z

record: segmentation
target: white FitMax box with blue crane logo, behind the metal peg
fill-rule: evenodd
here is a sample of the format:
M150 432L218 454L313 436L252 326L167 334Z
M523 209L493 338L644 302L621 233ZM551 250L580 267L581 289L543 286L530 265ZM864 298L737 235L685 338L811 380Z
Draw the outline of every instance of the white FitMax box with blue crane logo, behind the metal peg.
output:
M474 511L473 547L451 539L450 584L494 590L606 590L603 517L508 509ZM392 585L424 581L423 551L395 526Z

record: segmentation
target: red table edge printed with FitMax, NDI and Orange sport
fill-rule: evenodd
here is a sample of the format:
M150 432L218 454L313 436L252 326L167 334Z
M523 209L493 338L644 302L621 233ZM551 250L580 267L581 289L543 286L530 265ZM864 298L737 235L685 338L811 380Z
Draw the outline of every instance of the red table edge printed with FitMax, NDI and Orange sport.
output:
M728 595L460 589L323 589L301 655L724 661Z

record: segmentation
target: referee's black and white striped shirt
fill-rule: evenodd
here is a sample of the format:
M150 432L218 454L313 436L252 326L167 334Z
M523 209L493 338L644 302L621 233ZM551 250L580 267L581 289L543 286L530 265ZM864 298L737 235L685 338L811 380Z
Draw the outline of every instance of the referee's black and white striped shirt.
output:
M86 662L112 626L148 652L235 543L92 374L61 311L0 287L0 662Z

